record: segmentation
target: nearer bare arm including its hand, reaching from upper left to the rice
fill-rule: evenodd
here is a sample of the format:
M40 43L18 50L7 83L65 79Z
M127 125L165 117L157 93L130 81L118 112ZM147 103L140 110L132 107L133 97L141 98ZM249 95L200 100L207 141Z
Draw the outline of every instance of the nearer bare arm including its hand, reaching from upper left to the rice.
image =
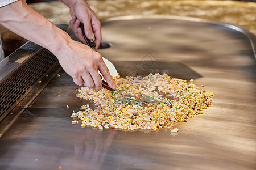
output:
M23 0L0 8L0 24L10 31L50 50L73 81L81 86L100 90L101 77L115 87L101 55L89 46L73 41L71 37L34 11Z

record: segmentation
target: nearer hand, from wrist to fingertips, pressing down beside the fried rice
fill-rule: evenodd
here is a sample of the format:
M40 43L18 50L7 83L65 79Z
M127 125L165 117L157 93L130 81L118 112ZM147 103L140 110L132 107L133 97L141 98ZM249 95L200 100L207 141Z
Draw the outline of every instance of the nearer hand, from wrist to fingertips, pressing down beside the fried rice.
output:
M60 65L77 85L84 84L86 87L94 88L96 91L101 90L102 80L98 74L99 70L109 86L115 88L114 80L100 53L95 52L87 45L73 40L59 51L60 53L56 57L59 59Z

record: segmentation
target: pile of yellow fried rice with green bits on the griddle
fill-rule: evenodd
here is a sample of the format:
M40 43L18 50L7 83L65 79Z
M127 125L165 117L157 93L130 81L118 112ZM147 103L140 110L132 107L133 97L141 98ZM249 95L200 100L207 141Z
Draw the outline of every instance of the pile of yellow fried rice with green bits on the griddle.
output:
M126 99L118 92L102 88L94 91L88 87L77 89L77 97L92 100L95 108L83 105L73 112L73 124L92 126L99 129L153 129L174 128L174 122L186 121L188 117L202 114L211 107L212 92L200 89L186 80L171 78L167 74L149 74L144 78L114 78L116 89L123 94L148 96L156 103L144 103Z

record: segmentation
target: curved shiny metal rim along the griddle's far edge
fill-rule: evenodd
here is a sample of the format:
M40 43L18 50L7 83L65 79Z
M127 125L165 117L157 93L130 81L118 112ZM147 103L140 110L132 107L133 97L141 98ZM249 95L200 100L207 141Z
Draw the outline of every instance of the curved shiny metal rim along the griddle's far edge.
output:
M115 21L115 20L132 20L132 19L187 20L189 22L201 22L201 23L215 24L215 25L220 25L222 27L227 27L227 28L233 29L234 31L238 31L246 36L246 38L250 42L251 50L253 50L254 59L256 59L256 50L255 50L256 49L256 36L245 28L238 27L236 25L232 25L232 24L228 24L228 23L222 23L222 22L217 22L217 21L208 20L208 19L194 18L194 17L189 17L189 16L175 16L175 15L150 15L150 16L127 15L127 16L117 16L117 17L112 17L112 18L104 18L104 19L101 19L101 22L110 22L110 21Z

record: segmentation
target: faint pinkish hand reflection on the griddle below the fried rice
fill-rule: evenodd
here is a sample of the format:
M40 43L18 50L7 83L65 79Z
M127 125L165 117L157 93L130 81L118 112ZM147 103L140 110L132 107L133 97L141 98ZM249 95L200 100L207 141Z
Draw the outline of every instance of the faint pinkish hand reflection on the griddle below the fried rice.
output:
M115 131L86 131L74 143L72 155L60 161L67 169L104 169L102 167Z

